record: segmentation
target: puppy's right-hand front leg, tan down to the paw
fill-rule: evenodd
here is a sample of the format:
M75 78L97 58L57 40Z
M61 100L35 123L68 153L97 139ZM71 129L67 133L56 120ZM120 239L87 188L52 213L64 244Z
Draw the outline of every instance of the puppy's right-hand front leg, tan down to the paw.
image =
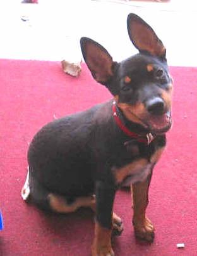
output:
M133 195L133 226L137 238L153 241L154 227L152 222L146 217L146 207L148 205L148 188L152 173L143 182L132 185Z

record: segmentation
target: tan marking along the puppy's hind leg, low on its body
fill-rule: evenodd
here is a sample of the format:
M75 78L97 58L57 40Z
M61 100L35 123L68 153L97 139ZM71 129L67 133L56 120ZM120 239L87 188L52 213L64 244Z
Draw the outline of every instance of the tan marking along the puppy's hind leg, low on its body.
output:
M63 196L53 193L50 193L48 198L51 208L60 213L75 212L80 207L92 208L95 205L95 198L93 196L76 198L75 202L71 204L67 204Z

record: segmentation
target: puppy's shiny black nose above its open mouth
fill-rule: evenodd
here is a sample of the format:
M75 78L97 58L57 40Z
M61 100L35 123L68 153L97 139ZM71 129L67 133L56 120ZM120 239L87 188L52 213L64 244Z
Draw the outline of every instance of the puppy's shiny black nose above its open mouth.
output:
M149 99L146 102L146 108L152 115L162 115L165 111L164 100L160 97Z

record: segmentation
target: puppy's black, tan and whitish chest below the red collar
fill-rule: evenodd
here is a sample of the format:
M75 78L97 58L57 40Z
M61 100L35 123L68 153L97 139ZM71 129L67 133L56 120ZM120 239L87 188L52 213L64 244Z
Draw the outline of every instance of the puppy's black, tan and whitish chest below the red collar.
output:
M146 147L141 152L140 146L136 144L125 145L126 161L121 166L114 165L112 172L118 186L129 186L135 182L142 182L152 172L153 165L158 161L164 146ZM131 160L129 161L129 155Z

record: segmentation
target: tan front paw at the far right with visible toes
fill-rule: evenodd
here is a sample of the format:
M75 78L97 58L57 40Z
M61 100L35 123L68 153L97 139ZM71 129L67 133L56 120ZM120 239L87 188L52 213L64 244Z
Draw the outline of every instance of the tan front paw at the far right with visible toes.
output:
M133 220L134 233L136 238L152 242L155 237L155 229L152 222L145 218L143 221Z

